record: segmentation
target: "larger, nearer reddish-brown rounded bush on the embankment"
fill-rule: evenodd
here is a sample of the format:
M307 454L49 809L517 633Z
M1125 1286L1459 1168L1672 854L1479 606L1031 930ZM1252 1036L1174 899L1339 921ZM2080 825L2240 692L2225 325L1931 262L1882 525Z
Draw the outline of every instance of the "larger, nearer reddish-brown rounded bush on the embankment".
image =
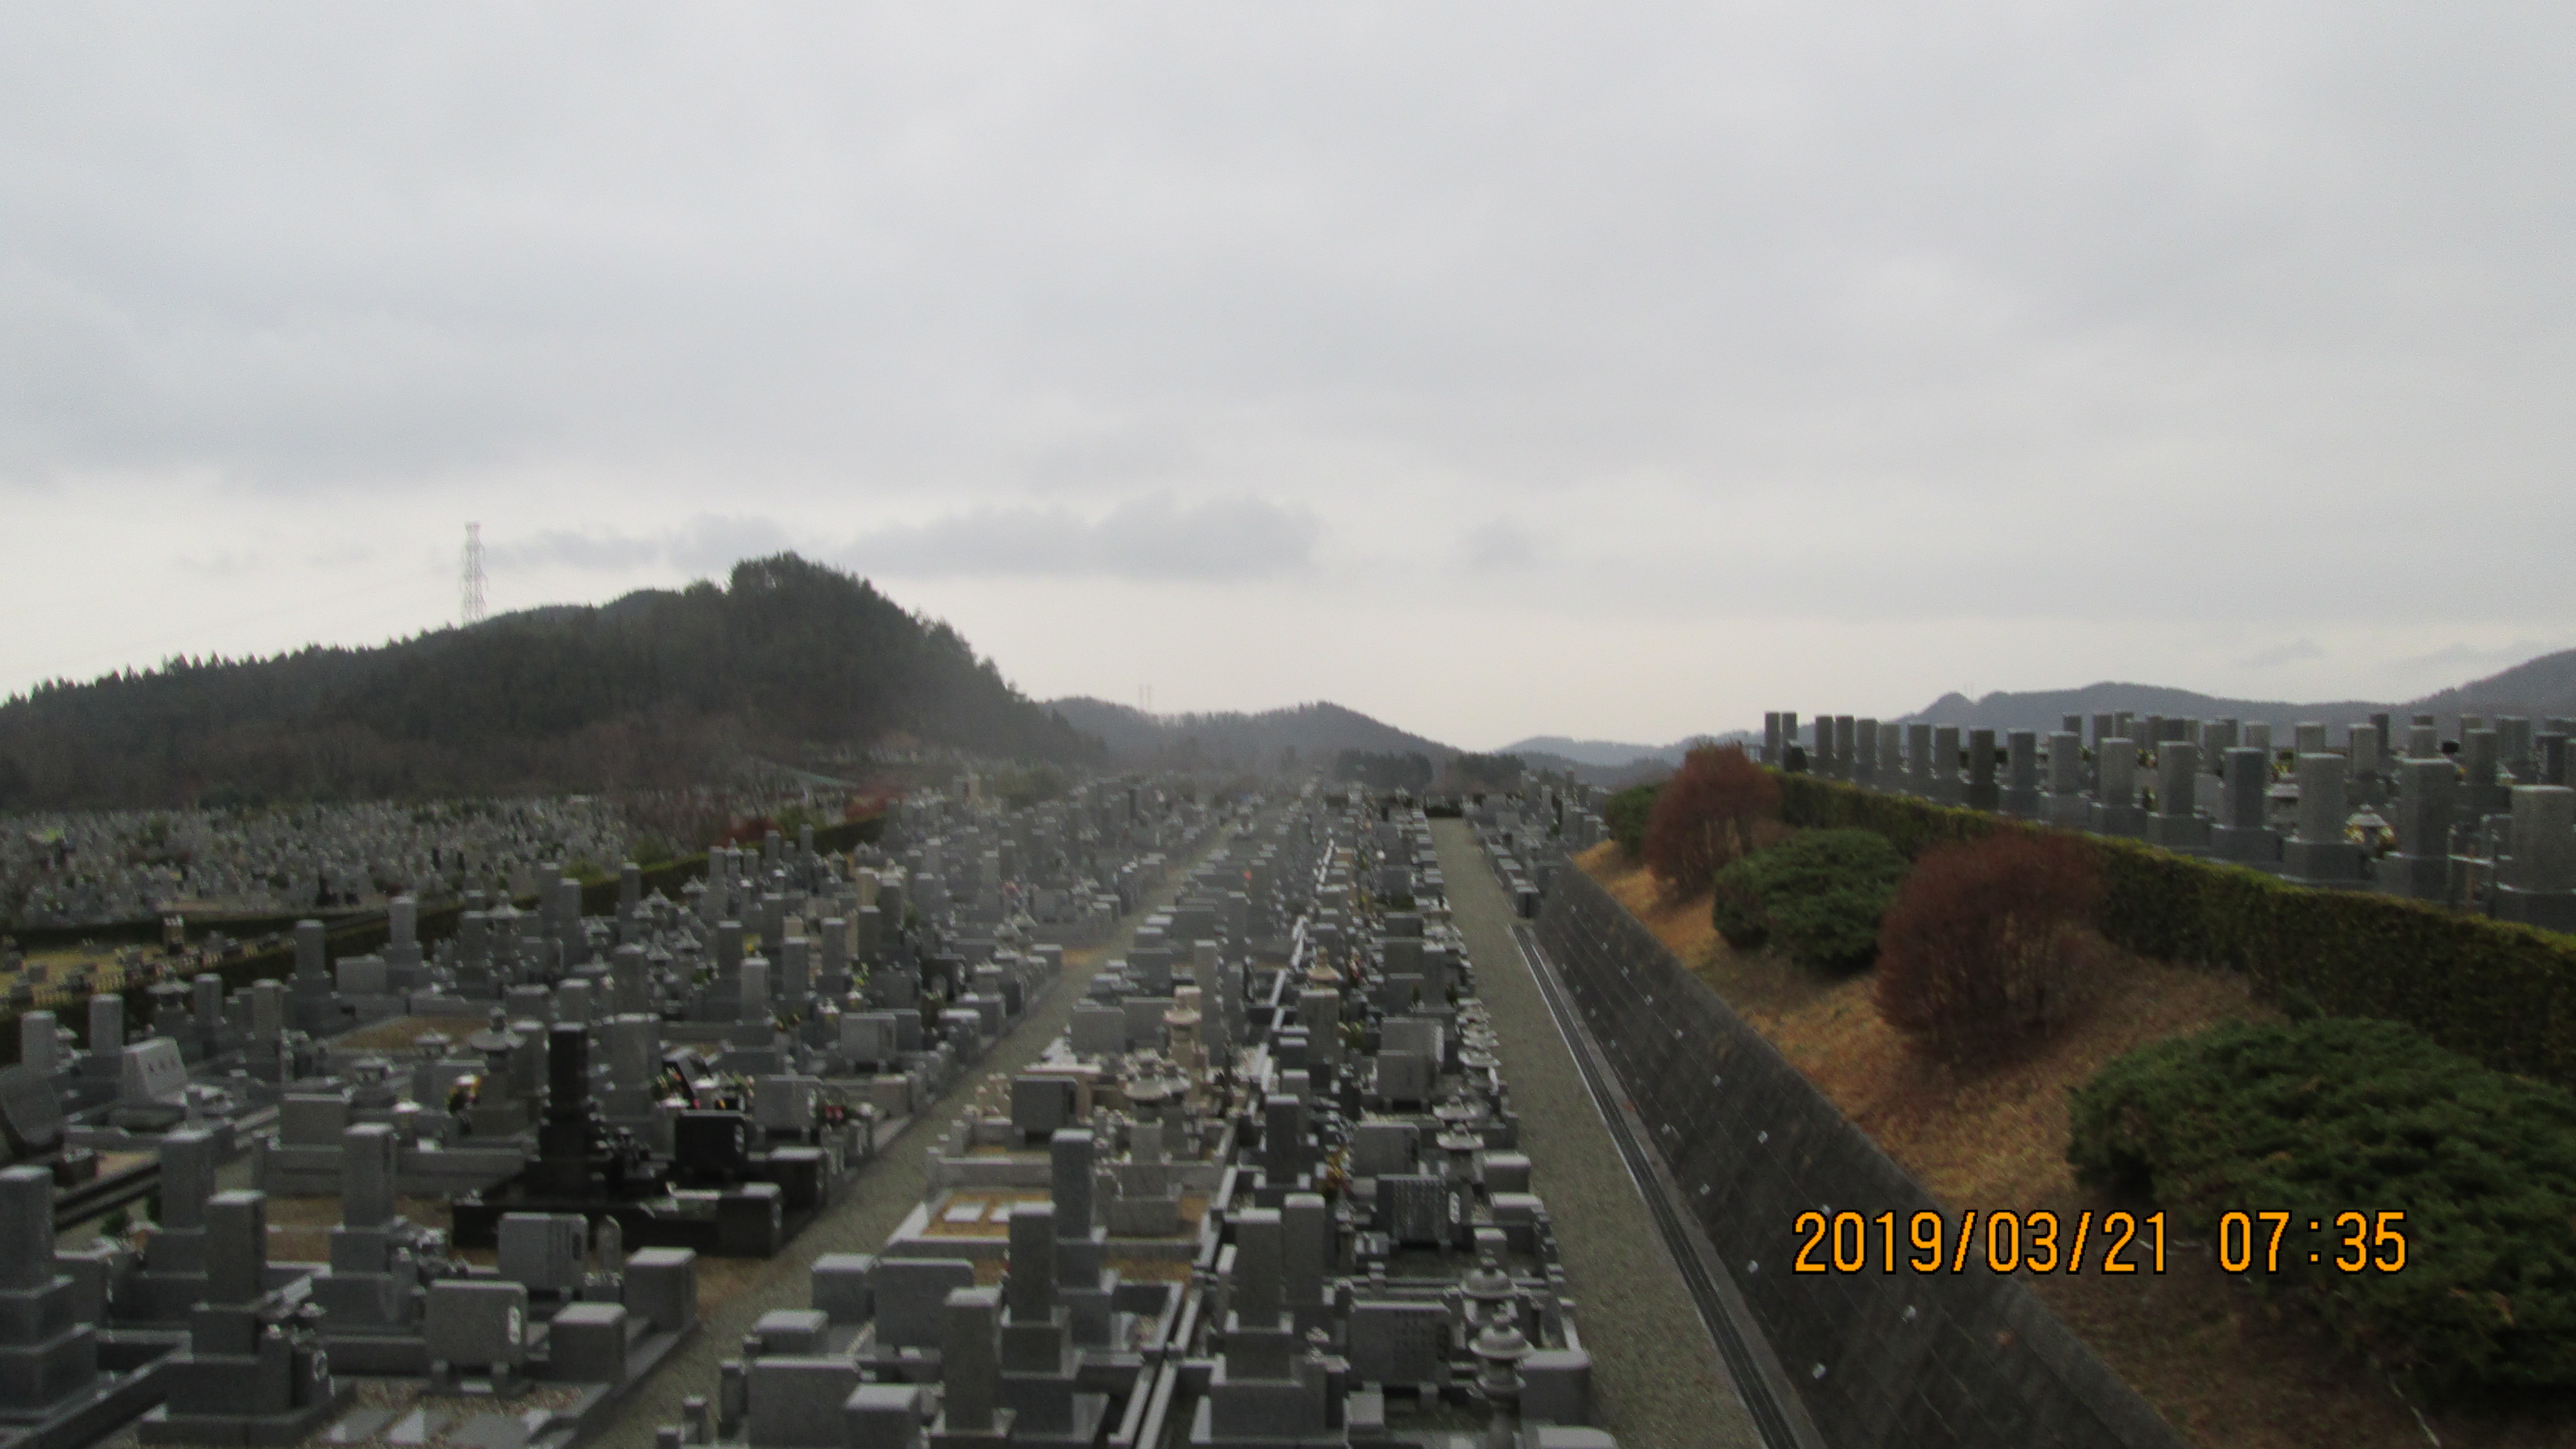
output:
M1878 1016L1945 1062L2009 1057L2084 1006L2102 869L2071 835L2009 830L1914 861L1878 926Z

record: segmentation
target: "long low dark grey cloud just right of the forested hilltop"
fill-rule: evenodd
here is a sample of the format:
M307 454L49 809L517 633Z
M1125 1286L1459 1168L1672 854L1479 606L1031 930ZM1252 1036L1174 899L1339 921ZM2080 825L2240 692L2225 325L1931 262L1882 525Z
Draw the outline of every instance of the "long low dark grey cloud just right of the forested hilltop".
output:
M868 575L894 578L1252 580L1309 570L1321 531L1314 513L1260 498L1193 505L1154 495L1097 518L1069 508L979 508L878 529L842 557Z

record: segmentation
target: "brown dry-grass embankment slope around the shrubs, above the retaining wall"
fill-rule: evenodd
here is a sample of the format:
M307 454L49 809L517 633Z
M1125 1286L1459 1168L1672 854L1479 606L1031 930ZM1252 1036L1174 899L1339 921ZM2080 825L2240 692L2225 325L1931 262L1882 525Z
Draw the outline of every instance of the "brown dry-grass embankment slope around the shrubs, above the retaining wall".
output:
M2002 1067L1929 1065L1870 1006L1873 975L1826 980L1718 938L1708 895L1669 902L1615 843L1577 861L1716 987L1945 1209L2105 1212L2120 1204L2066 1165L2066 1091L2138 1047L2221 1021L2267 1021L2241 977L2115 954L2097 1006ZM2316 1320L2218 1271L2208 1243L2172 1243L2169 1271L2025 1281L2192 1444L2210 1449L2576 1449L2576 1405L2409 1405ZM2434 1439L2437 1436L2437 1439Z

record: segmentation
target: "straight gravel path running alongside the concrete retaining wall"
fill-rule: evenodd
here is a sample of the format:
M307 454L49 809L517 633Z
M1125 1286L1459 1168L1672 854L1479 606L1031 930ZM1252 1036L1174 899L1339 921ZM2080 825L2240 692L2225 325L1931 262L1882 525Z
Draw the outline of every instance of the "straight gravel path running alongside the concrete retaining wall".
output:
M1718 1346L1682 1292L1646 1201L1584 1091L1512 941L1512 905L1463 820L1432 820L1450 913L1502 1036L1533 1189L1548 1199L1592 1351L1592 1395L1620 1449L1759 1449Z

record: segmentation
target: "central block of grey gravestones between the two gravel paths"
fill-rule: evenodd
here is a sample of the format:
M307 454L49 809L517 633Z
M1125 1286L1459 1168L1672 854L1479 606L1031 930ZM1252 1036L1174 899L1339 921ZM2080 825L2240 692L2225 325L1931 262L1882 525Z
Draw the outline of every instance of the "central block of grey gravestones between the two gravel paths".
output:
M1427 853L1231 838L662 1444L1610 1444Z

